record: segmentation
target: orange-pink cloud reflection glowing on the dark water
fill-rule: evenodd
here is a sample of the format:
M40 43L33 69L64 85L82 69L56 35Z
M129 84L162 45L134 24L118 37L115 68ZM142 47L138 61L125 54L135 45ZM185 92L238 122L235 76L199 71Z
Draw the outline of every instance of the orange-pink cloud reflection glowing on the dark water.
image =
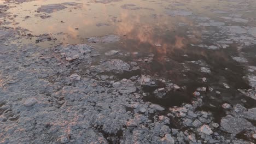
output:
M124 41L136 41L136 45L124 43L124 47L129 47L134 51L140 51L143 44L149 44L146 48L148 52L156 53L158 61L164 61L169 53L175 50L185 50L189 43L195 43L201 37L201 33L196 29L192 29L187 37L185 29L179 28L177 21L193 25L193 21L184 17L143 17L141 15L129 15L124 11L120 15L121 21L117 25L116 33L125 35ZM159 46L161 45L161 46ZM144 49L143 49L144 50Z

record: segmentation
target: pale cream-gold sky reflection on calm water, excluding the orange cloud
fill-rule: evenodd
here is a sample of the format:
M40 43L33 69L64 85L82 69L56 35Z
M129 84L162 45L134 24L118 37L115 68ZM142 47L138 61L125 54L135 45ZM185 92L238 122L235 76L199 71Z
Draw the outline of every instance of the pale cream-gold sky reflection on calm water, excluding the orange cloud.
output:
M57 3L80 3L79 5L64 4L67 8L56 10L54 13L37 13L41 5ZM122 5L133 4L134 6L122 8ZM73 38L79 35L82 38L106 35L110 33L127 34L134 29L142 27L144 29L154 29L155 27L177 29L178 22L192 21L188 17L180 17L179 20L167 16L165 11L171 10L191 10L198 15L216 17L212 9L225 10L226 5L232 8L232 2L212 1L118 1L112 3L97 3L97 1L60 1L60 0L40 0L24 2L9 11L17 15L13 21L19 22L14 27L27 28L35 35L43 33L67 33ZM136 9L138 8L138 9ZM41 19L40 15L50 15L47 19ZM26 16L30 16L25 19ZM109 26L97 26L98 23L107 23ZM163 27L165 26L165 27ZM75 31L79 28L79 31ZM142 30L140 30L142 31ZM141 32L141 34L143 34ZM150 34L150 33L149 33ZM148 39L147 36L139 35L140 40Z

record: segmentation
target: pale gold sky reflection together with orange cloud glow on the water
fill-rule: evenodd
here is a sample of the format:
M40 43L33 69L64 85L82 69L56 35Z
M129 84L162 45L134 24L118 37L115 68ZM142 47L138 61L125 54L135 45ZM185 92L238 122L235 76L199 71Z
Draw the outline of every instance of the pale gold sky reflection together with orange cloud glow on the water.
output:
M3 1L1 1L3 2ZM117 34L122 38L121 45L130 51L148 51L157 53L159 61L176 50L189 51L189 44L202 41L202 31L208 31L205 26L198 26L201 19L220 20L220 16L229 16L233 10L247 7L248 3L236 1L70 1L70 0L37 0L20 4L9 4L10 16L6 19L18 22L7 26L28 29L27 33L40 35L50 33L57 38L56 44L86 43L89 37L101 37L107 34ZM252 4L243 17L255 19L253 11L256 2ZM253 6L253 3L255 5ZM53 13L44 13L42 5L61 4L65 9L53 9ZM39 9L38 9L39 8ZM228 9L228 11L227 11ZM191 11L191 16L169 16L168 10ZM215 11L218 10L218 13ZM234 12L234 15L237 11ZM238 14L237 14L238 15ZM49 16L42 19L42 16ZM208 18L209 17L209 18ZM240 23L243 25L243 23ZM254 25L254 21L247 25ZM216 31L216 29L213 29ZM28 41L28 43L33 43ZM155 46L155 45L161 46ZM147 45L143 49L142 45ZM203 51L201 55L205 55Z

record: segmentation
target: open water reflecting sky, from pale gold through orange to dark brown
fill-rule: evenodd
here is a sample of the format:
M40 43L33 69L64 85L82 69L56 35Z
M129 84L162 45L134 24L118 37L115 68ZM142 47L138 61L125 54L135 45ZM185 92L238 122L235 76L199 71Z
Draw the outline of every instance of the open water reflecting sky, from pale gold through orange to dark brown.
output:
M5 20L12 23L4 26L25 28L29 31L26 34L32 35L48 33L56 38L56 41L36 44L43 47L88 43L87 39L90 37L119 35L121 40L118 43L99 44L105 49L104 52L138 52L139 56L131 55L128 60L138 62L148 74L165 76L174 83L188 86L188 95L202 86L201 77L207 77L217 89L227 81L234 89L226 92L226 97L232 97L230 93L236 93L236 88L248 88L248 83L242 78L245 75L243 66L231 58L238 55L238 44L230 44L229 49L219 50L199 47L199 44L216 45L214 41L219 37L216 34L223 34L218 27L202 26L199 23L220 21L225 22L225 26L256 27L256 1L102 2L103 0L41 0L8 4L9 16ZM38 11L42 5L49 4L61 4L66 8L53 9L53 13ZM189 15L184 11L193 14ZM173 13L178 15L173 16ZM183 16L184 14L187 16ZM232 22L228 20L229 17L239 17L238 20L246 19L249 22ZM34 44L35 39L32 37L22 42ZM144 58L148 58L152 53L154 61L145 63ZM139 58L142 61L138 61ZM196 61L203 64L193 63ZM212 73L202 73L201 67L211 69Z

